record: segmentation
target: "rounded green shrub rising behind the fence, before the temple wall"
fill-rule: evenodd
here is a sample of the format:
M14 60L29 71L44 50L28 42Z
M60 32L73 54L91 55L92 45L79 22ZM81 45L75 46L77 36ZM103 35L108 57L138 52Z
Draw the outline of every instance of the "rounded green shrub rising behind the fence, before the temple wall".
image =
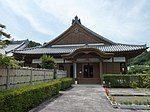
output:
M43 55L40 60L42 61L42 67L46 69L54 69L55 60L52 56Z

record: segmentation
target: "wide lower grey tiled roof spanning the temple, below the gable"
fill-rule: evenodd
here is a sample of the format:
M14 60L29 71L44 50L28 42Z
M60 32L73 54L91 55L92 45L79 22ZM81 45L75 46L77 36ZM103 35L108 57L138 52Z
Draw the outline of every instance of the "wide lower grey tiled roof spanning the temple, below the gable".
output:
M24 50L14 51L19 54L64 54L71 53L79 48L96 48L103 52L122 52L133 51L140 49L147 49L146 45L127 45L127 44L115 44L115 45L82 45L82 46L57 46L49 48L28 48Z

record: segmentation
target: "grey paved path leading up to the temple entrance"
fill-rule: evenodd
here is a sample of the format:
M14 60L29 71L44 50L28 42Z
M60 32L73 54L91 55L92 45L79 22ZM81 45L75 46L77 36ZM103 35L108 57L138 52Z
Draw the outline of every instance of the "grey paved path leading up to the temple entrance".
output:
M114 109L100 85L76 85L36 112L148 112Z

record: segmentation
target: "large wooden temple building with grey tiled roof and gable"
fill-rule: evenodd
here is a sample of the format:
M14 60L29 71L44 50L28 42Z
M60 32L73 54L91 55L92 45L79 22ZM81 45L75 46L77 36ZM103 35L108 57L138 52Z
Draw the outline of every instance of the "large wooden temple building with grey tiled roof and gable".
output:
M115 43L81 24L76 16L72 25L42 47L16 50L16 59L25 66L40 67L44 54L55 58L57 68L66 70L68 77L81 83L102 83L103 74L127 72L127 60L144 51L146 45Z

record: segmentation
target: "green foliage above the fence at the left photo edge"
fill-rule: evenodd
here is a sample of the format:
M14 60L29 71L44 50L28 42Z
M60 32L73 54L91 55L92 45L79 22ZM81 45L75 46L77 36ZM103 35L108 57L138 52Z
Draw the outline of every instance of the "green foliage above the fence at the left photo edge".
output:
M0 66L1 67L11 67L18 68L20 67L21 61L17 61L14 57L9 57L5 55L0 55Z

